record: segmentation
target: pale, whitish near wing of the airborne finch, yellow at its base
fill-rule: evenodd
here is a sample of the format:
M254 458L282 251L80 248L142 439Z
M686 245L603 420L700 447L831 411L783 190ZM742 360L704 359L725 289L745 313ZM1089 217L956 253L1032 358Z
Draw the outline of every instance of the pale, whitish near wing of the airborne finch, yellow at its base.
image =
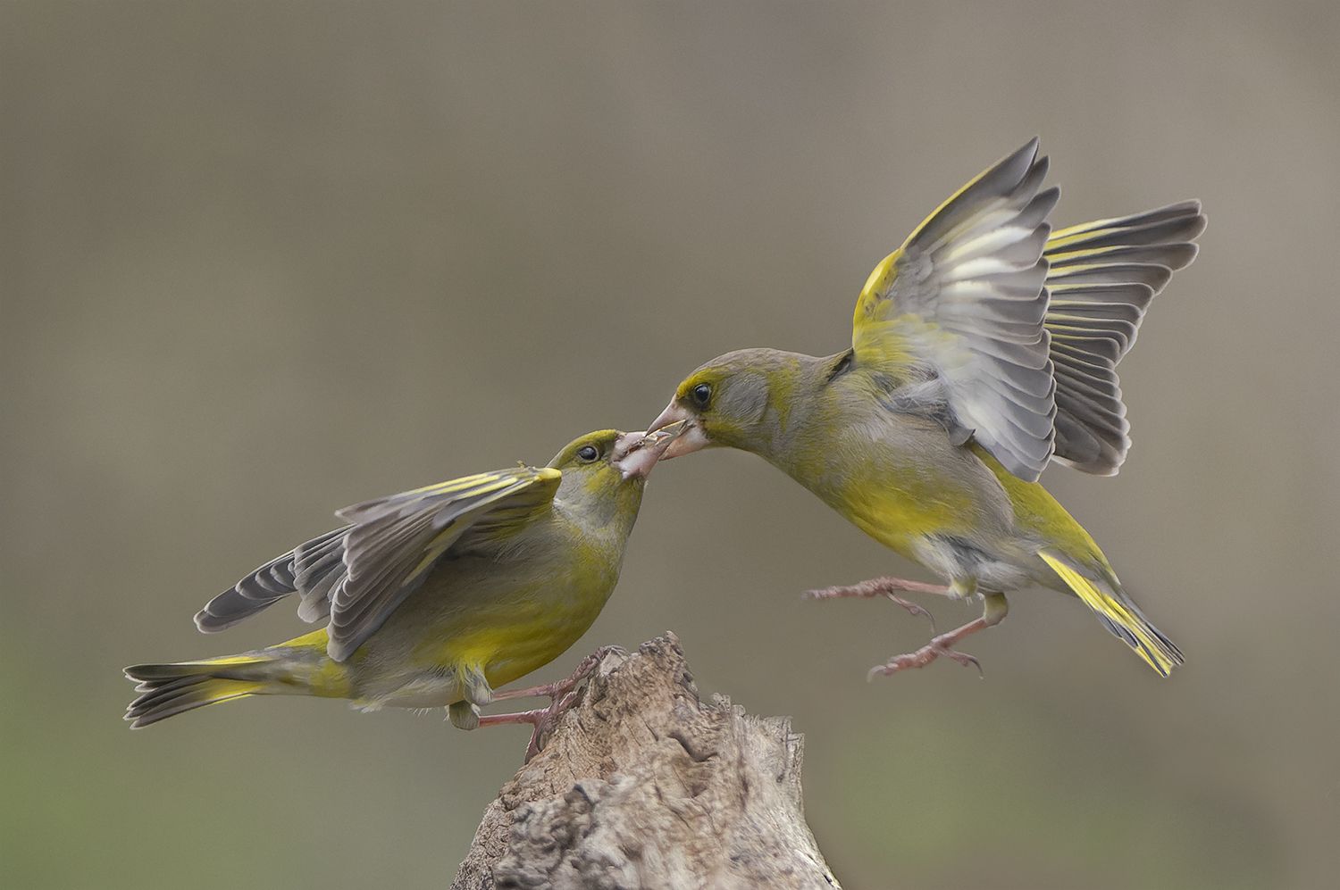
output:
M858 365L938 380L950 432L1029 482L1056 416L1043 248L1060 190L1045 175L1033 139L959 189L875 266L852 325Z

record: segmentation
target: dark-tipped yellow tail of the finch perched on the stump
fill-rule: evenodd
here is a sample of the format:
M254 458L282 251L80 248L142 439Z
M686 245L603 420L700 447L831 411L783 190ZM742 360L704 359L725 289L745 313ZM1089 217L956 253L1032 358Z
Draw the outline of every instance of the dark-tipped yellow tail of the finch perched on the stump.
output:
M126 668L126 677L137 681L139 697L126 708L126 720L131 729L139 729L185 711L257 695L268 685L268 668L273 662L272 654L247 653L131 665Z

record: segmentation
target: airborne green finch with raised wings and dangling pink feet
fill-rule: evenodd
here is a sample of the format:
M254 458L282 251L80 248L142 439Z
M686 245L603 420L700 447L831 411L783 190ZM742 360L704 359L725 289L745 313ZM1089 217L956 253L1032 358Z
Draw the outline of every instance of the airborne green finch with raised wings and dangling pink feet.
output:
M1122 589L1093 538L1038 484L1055 460L1112 475L1130 448L1116 364L1150 301L1195 257L1197 201L1052 232L1033 139L942 203L866 281L852 344L813 357L741 349L679 384L651 430L667 458L752 451L947 586L878 578L815 596L934 592L982 617L872 673L961 664L966 636L1029 585L1077 596L1167 676L1182 653Z

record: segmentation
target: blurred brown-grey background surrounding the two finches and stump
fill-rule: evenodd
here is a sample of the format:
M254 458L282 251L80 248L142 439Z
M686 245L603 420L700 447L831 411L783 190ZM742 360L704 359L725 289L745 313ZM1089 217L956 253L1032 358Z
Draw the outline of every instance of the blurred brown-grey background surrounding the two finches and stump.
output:
M1234 8L1230 8L1234 7ZM1340 853L1340 7L0 5L0 883L442 886L524 729L263 699L130 733L119 668L334 507L827 353L1034 132L1060 224L1201 197L1116 479L1047 483L1187 666L1014 598L953 664L808 586L915 571L762 462L657 472L596 644L789 713L848 889L1325 887ZM966 606L930 604L946 625Z

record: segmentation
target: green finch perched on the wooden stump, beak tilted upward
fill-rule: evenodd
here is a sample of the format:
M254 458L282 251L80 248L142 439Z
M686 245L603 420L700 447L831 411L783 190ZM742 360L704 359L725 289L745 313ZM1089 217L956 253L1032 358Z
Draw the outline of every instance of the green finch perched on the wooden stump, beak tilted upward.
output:
M213 633L297 594L297 614L324 629L234 656L126 668L141 692L126 719L146 727L232 699L307 695L366 709L445 707L462 728L525 721L539 732L547 712L478 709L571 688L493 692L559 657L600 614L647 474L674 438L603 430L547 467L339 510L348 525L267 562L196 616Z

